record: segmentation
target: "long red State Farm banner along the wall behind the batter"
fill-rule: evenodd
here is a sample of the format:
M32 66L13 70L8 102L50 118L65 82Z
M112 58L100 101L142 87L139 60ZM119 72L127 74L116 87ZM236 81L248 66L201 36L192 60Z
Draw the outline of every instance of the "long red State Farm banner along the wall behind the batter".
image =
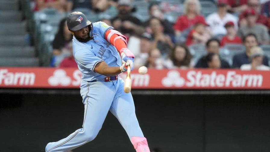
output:
M126 74L119 75L125 79ZM270 89L270 71L191 69L131 72L132 89ZM77 68L0 68L0 87L79 88Z

